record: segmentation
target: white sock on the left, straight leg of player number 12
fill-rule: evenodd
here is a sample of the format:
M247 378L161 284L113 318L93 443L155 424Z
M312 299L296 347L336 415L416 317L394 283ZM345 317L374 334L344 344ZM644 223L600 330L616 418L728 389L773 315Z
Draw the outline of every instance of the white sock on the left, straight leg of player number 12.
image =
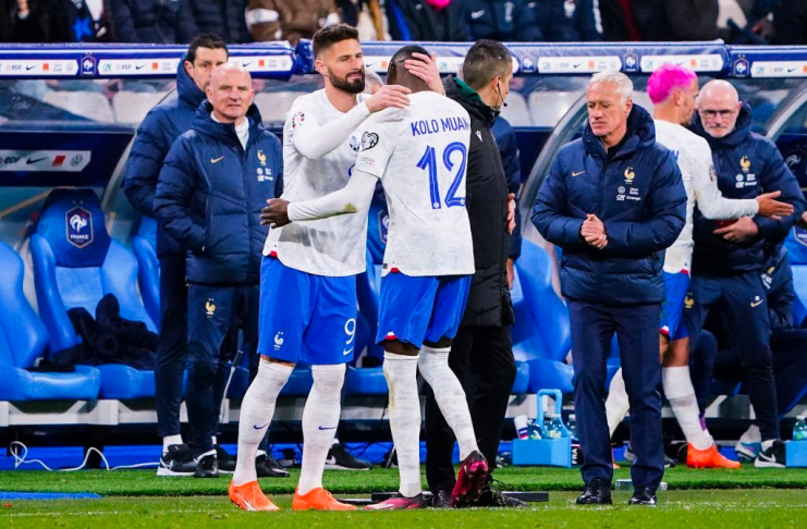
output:
M414 497L420 484L420 399L417 356L383 354L383 374L390 387L390 430L398 455L399 492Z

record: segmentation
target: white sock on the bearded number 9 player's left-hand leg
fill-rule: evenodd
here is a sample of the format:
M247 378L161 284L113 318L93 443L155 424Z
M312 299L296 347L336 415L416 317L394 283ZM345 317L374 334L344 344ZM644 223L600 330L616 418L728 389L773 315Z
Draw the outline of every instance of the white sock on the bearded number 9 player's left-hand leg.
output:
M258 479L255 470L258 445L266 435L269 422L272 421L280 390L283 389L293 370L291 366L264 359L258 365L258 374L249 384L244 401L241 403L239 458L233 473L233 483L236 485Z

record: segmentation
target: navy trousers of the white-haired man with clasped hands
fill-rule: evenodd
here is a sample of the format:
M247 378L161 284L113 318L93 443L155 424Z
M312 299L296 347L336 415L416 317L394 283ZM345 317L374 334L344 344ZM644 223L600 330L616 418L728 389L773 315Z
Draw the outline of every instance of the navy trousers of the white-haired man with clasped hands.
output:
M611 482L613 459L606 418L606 360L616 333L625 390L631 403L631 467L634 487L656 491L664 475L664 445L661 434L661 361L659 324L661 305L608 307L571 302L572 350L574 360L574 407L577 434L585 463L583 480Z

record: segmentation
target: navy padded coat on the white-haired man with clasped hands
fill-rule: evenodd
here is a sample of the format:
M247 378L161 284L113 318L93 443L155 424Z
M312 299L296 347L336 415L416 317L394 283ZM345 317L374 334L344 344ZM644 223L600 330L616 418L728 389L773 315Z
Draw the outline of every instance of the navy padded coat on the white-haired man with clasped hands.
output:
M541 184L533 223L561 248L561 287L568 299L607 306L664 300L664 249L684 227L686 192L672 152L656 143L652 118L634 104L627 133L608 156L586 123L561 148ZM597 249L580 235L587 214L606 225Z

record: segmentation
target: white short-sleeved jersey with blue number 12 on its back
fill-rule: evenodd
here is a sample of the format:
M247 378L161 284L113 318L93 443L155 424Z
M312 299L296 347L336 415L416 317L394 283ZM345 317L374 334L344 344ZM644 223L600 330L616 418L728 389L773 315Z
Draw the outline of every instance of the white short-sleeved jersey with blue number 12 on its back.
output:
M475 272L465 209L470 118L432 91L409 95L360 127L356 169L377 176L389 208L382 274L467 275Z

